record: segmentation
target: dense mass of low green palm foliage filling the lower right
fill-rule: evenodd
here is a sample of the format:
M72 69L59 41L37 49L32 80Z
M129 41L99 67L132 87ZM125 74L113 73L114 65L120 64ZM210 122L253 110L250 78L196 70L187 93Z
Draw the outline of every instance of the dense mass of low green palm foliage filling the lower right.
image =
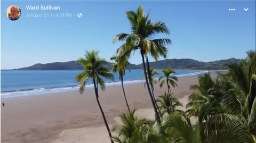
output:
M157 99L162 114L168 114L161 118L160 125L157 122L143 121L142 124L135 125L133 131L129 130L132 136L120 132L118 137L114 137L115 141L255 143L256 56L252 51L247 52L247 55L246 60L229 64L228 72L219 74L215 80L210 73L199 76L198 85L191 85L193 92L189 96L186 112L175 110L181 103L165 92ZM123 116L128 115L135 116L127 113ZM196 124L191 124L191 116L196 117ZM139 122L135 119L136 117L122 120L124 125L121 130Z

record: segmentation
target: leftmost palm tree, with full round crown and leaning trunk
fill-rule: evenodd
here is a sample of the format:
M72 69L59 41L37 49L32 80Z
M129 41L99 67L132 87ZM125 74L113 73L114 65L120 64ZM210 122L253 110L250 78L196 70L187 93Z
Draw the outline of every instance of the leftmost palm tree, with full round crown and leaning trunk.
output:
M81 87L79 89L79 92L80 94L82 94L84 92L84 87L86 85L87 80L89 80L89 78L92 79L92 82L94 85L94 92L95 92L98 106L100 108L100 112L102 114L104 123L107 127L110 140L112 143L114 143L114 141L111 138L112 136L111 136L110 129L108 127L106 116L100 105L99 94L98 94L98 86L100 86L102 90L105 90L105 82L101 77L113 79L113 74L111 74L109 72L109 69L104 66L106 61L99 58L98 53L99 52L94 52L94 51L92 51L91 53L86 52L85 58L79 58L78 63L80 63L83 66L84 71L76 75L76 80L78 82L81 82Z

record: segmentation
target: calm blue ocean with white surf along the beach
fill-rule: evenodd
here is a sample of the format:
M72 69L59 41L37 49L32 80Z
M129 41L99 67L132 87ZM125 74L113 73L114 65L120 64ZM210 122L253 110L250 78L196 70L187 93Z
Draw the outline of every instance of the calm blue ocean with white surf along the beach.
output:
M163 75L157 70L158 78ZM44 95L54 92L66 92L79 89L75 75L82 70L1 70L1 99L22 96ZM175 70L175 76L186 77L205 73L199 70ZM114 81L104 79L106 86L121 85L119 74L114 74ZM145 82L143 70L126 71L124 84ZM85 89L93 88L92 80L87 81Z

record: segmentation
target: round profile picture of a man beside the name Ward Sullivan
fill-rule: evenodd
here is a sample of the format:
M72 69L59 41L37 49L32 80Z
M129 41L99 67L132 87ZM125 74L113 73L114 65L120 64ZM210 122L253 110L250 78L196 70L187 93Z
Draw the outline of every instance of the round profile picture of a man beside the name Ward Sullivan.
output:
M15 21L18 20L21 16L20 7L17 5L11 5L6 10L6 16L8 19Z

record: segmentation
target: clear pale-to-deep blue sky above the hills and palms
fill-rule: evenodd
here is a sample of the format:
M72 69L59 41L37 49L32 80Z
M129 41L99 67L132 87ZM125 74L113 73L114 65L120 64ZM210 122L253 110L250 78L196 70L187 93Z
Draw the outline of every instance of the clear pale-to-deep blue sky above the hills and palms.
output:
M20 7L19 20L6 18L10 5ZM29 11L26 5L60 6L60 10ZM208 62L245 58L247 51L255 50L255 1L1 1L1 69L73 61L92 49L109 61L122 44L113 44L113 38L131 31L125 12L136 11L140 5L145 13L150 10L153 22L163 21L169 28L170 35L153 37L172 40L166 46L167 58ZM82 18L77 18L78 12ZM43 13L73 16L26 17ZM135 52L129 61L139 64L141 57Z

